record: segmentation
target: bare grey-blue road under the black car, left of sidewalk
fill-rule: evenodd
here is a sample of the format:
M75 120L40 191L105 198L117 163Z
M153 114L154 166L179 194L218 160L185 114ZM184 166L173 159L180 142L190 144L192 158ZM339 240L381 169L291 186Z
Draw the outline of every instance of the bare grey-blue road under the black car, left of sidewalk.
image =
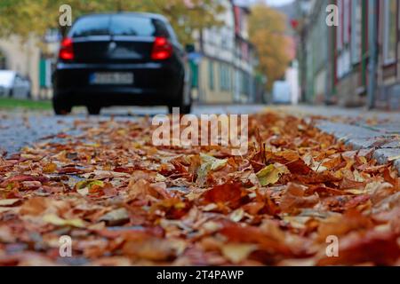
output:
M263 105L194 106L193 114L252 114L264 109ZM100 116L88 116L84 108L74 109L68 116L55 116L52 112L24 112L0 110L0 154L17 153L21 147L30 146L41 138L60 132L74 133L76 120L108 120L114 116L121 122L135 120L138 116L166 114L166 107L110 107Z

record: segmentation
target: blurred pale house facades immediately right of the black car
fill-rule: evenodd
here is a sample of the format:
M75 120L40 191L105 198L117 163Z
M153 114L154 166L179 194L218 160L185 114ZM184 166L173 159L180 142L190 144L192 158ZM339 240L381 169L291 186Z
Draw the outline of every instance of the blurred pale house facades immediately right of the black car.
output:
M249 42L250 10L232 0L219 0L225 11L218 15L220 27L195 34L196 93L202 103L253 101L256 94L255 51Z

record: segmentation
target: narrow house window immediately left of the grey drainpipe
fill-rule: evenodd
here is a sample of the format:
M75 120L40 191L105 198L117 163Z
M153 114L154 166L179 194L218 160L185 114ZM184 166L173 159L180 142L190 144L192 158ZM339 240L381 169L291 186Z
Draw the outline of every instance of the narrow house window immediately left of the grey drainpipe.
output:
M358 63L361 59L362 0L353 0L351 4L351 61Z

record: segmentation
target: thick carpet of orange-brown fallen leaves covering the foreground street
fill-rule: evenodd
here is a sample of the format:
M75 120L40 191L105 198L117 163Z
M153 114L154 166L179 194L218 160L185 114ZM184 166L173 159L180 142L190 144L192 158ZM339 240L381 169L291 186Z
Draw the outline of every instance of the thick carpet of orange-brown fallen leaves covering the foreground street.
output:
M153 146L148 117L71 123L1 158L0 265L400 264L393 161L316 117L250 115L243 156Z

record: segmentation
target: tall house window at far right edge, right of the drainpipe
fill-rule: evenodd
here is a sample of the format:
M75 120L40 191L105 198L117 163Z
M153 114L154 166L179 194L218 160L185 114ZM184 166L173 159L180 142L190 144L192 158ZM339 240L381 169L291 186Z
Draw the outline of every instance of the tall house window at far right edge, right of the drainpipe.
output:
M384 64L396 60L397 25L396 25L396 0L384 0L384 27L383 27L383 59Z

